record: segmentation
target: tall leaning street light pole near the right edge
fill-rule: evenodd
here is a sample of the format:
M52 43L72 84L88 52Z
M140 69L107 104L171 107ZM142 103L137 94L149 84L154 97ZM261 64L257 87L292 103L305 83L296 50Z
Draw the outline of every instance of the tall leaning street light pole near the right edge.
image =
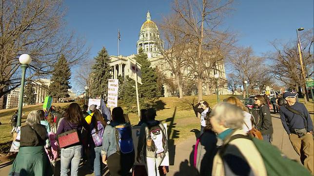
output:
M299 37L299 34L297 33L297 31L303 31L303 30L304 30L304 28L299 28L299 29L296 29L295 31L296 31L296 35L297 35L297 39L298 39L297 48L299 50L302 76L303 76L304 82L306 82L306 77L309 77L309 75L308 75L308 72L306 70L306 67L303 67L303 62L305 64L305 60L304 60L304 55L303 55L303 50L302 50L302 46L301 46L300 37ZM306 85L304 85L304 91L305 91L305 96L306 96L306 98L304 99L304 103L307 103L307 101L310 101L310 100L309 100L309 94L308 94ZM312 91L312 89L311 89L311 94L312 94L312 100L313 100L313 91Z

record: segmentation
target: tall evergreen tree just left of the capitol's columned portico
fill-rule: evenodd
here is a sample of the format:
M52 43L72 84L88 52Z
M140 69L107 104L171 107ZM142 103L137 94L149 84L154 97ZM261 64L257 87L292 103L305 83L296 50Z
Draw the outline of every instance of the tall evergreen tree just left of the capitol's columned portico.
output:
M108 79L110 78L111 68L106 48L103 47L94 59L96 61L92 67L93 83L90 86L91 97L107 97Z

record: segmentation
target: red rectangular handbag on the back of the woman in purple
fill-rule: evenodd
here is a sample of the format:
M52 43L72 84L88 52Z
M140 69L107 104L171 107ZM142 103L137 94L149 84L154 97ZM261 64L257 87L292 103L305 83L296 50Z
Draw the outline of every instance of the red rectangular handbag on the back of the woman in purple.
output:
M71 127L71 129L72 130L66 131L66 132L58 135L58 141L59 141L59 147L60 148L66 148L66 147L69 147L71 145L74 145L74 144L80 142L79 137L78 137L78 130L73 129L72 127Z

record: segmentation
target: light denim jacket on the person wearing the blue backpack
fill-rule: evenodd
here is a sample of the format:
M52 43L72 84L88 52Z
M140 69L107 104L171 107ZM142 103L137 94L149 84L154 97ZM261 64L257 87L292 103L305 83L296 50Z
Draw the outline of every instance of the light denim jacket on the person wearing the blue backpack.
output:
M117 152L117 140L116 140L116 129L114 126L120 123L111 122L110 125L106 125L103 132L101 155L106 155L107 158ZM122 125L126 125L123 123Z

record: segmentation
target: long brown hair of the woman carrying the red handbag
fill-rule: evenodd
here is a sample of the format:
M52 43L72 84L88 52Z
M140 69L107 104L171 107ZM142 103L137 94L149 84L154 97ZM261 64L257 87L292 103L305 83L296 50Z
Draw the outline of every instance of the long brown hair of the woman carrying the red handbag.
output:
M71 103L64 113L64 118L71 124L81 125L83 113L79 105L77 103Z

